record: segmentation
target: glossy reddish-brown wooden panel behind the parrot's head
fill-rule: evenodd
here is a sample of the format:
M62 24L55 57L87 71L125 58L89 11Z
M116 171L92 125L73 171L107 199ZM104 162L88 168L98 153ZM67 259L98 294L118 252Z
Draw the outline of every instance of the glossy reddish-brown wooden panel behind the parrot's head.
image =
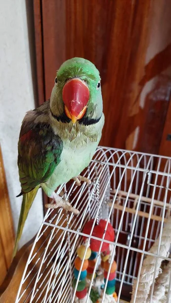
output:
M45 80L39 103L63 61L87 58L102 77L101 144L158 154L170 97L171 2L38 0L34 11Z

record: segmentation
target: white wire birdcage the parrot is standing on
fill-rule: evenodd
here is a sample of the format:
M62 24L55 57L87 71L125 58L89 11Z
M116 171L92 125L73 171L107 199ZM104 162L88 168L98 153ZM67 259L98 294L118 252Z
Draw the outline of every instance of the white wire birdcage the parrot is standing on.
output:
M169 222L171 207L170 160L99 146L83 174L92 180L92 184L87 186L83 183L78 187L72 182L59 188L58 193L63 193L64 198L79 210L79 215L74 216L61 209L47 211L30 251L16 302L76 301L77 284L75 289L72 288L76 249L83 242L84 224L92 218L94 223L106 219L115 231L114 242L100 240L113 247L111 257L117 263L117 302L169 302L171 224L167 226L168 237L165 238L163 226ZM90 235L87 247L91 238L93 236ZM94 273L99 264L100 254ZM162 280L161 267L167 268L167 281L161 281L160 285L159 280L156 284L156 277ZM90 291L96 285L94 273L84 302L89 301ZM106 285L107 281L101 302L105 299ZM154 299L156 285L162 287L159 300ZM141 295L142 300L139 299Z

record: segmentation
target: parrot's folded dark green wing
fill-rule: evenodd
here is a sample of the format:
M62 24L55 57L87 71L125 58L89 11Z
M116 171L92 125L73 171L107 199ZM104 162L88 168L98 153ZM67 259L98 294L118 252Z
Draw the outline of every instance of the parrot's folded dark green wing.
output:
M63 141L49 125L38 124L24 134L18 143L18 167L22 193L46 182L60 163Z

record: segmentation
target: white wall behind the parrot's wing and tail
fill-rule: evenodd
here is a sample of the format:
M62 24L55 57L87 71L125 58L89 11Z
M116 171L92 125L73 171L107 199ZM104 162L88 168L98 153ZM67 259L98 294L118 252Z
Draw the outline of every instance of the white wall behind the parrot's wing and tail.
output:
M25 0L0 0L0 5L0 142L16 230L22 200L21 197L16 198L21 190L17 143L23 117L35 105ZM35 235L42 218L39 190L28 215L20 246Z

